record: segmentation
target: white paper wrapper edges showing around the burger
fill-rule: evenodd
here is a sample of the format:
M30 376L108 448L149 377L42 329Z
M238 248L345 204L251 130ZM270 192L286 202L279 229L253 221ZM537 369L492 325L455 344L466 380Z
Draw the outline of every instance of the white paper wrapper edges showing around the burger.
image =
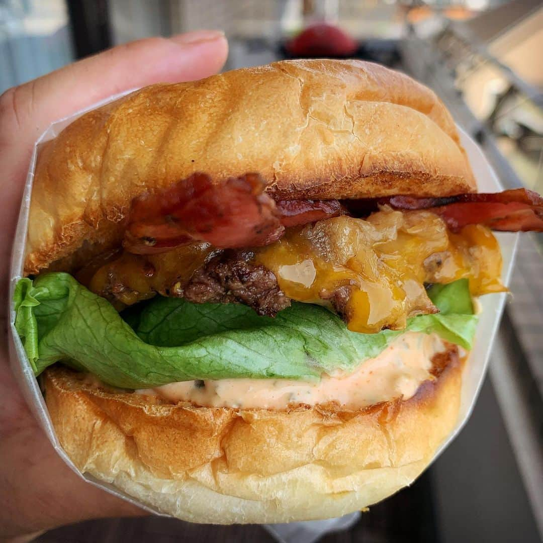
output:
M132 91L128 91L132 92ZM50 125L50 127L42 134L42 136L37 140L34 145L33 154L30 160L30 166L28 170L26 185L24 187L24 194L21 203L21 210L19 214L19 219L17 223L17 230L15 234L14 247L12 251L11 258L11 270L10 270L10 294L9 294L9 314L10 314L10 327L9 327L9 355L10 355L10 365L12 371L15 374L18 385L20 386L24 397L31 408L31 411L34 413L36 419L39 421L39 424L42 426L43 430L46 432L47 437L52 443L54 449L60 457L66 462L70 468L77 473L80 477L85 479L91 484L96 485L99 488L102 488L108 491L111 494L124 498L125 500L134 503L138 507L148 510L151 513L163 515L159 510L149 507L146 504L141 503L135 498L123 493L122 491L116 489L112 485L98 481L96 478L92 477L87 473L80 473L75 465L72 463L70 458L62 449L58 438L56 437L53 425L49 418L47 412L47 407L45 401L43 400L42 393L40 391L39 384L34 376L34 372L30 367L26 352L24 351L21 340L19 339L17 332L15 330L15 311L12 306L13 293L17 281L21 278L23 273L23 263L24 263L24 254L25 254L25 245L27 237L27 227L28 227L28 211L30 207L30 194L32 190L32 183L34 180L34 170L36 166L36 157L40 152L42 144L48 140L51 140L56 135L58 135L68 124L73 122L83 113L95 109L104 104L108 104L115 99L121 98L128 94L124 92L112 96L98 104L94 104L90 108L85 110L78 111L69 117L61 119ZM460 128L458 128L460 134L460 140L468 153L469 160L477 179L477 185L479 191L481 192L497 192L502 190L500 182L497 179L496 174L493 169L490 167L488 161L485 159L481 150L477 147L477 144ZM517 242L517 235L510 233L498 233L498 241L500 242L502 255L503 255L503 281L506 285L509 282L510 273L513 265L513 258L515 254L515 247ZM466 364L464 375L463 375L463 384L462 384L462 399L460 403L460 413L458 417L458 422L454 430L450 433L449 437L444 441L443 444L439 447L439 450L435 454L433 460L439 456L439 454L451 443L451 440L458 434L462 427L466 424L469 419L469 416L475 406L477 395L479 389L481 388L485 371L487 368L488 360L490 357L490 352L493 344L493 340L496 334L498 324L500 322L501 314L503 311L503 304L506 299L506 294L493 294L488 296L483 296L481 298L482 305L482 314L480 315L479 325L476 334L475 348L472 350L471 355ZM432 460L432 461L433 461ZM166 515L163 515L166 516ZM347 518L348 517L348 518ZM294 530L293 524L288 527L286 525L274 525L270 527L269 531L277 539L283 541L289 541L292 539L292 534L296 534L297 541L313 541L320 535L323 535L324 532L333 531L334 529L342 529L343 527L350 526L352 521L356 520L356 517L352 515L346 515L342 519L337 519L337 522L321 522L321 521L311 521L311 522L300 522L295 523L299 524L299 529Z

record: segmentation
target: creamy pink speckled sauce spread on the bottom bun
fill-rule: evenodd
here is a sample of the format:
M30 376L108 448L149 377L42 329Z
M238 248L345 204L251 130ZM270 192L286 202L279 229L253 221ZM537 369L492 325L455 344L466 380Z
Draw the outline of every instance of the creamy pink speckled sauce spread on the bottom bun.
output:
M337 402L342 407L356 409L412 397L423 381L434 379L430 372L432 358L444 350L445 344L437 334L406 332L351 374L323 375L320 382L281 379L184 381L136 392L203 407L285 409L289 405Z

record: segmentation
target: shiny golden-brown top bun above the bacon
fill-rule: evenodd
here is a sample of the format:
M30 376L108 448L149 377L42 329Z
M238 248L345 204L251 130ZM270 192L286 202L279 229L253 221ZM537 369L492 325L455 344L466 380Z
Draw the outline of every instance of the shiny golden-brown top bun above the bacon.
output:
M37 161L26 273L118 243L146 189L259 172L283 198L476 190L450 113L407 75L297 60L153 85L74 121ZM88 248L87 248L87 252Z

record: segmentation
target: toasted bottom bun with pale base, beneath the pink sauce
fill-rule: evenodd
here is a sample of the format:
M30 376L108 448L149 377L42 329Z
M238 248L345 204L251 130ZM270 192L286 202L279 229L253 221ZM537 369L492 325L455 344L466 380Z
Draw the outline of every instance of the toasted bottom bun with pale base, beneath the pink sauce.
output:
M60 443L82 472L191 522L288 522L367 507L411 484L458 417L457 349L407 401L358 411L172 405L44 376Z

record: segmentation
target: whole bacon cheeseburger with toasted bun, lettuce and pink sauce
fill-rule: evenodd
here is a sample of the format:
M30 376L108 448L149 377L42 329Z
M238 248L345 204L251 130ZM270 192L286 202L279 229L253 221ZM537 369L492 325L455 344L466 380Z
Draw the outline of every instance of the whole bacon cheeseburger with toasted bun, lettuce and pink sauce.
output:
M453 428L494 230L406 75L287 61L154 85L42 148L16 327L83 472L193 522L363 508Z

